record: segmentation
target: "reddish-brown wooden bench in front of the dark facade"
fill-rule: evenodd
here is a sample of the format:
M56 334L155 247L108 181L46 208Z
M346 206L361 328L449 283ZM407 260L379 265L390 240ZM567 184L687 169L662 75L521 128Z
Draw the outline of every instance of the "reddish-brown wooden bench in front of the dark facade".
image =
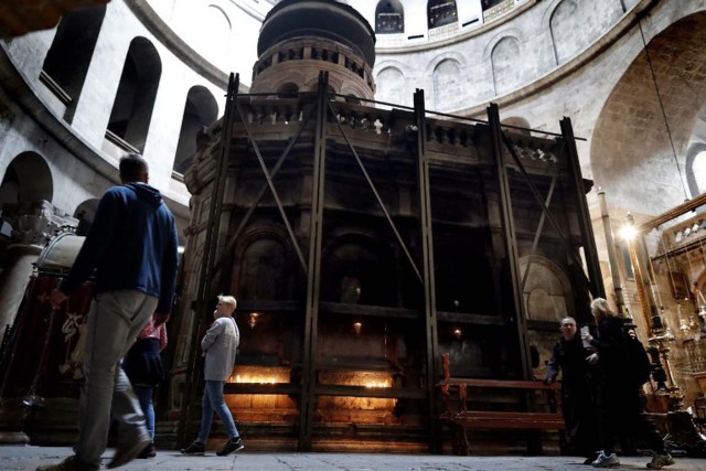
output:
M469 429L557 430L559 447L564 448L565 425L560 413L559 384L545 385L541 381L454 378L449 373L448 353L442 358L443 381L436 385L441 393L445 409L439 419L447 424L453 433L452 443L456 454L470 453L467 433ZM469 396L469 389L493 393L495 398L482 400L477 396ZM516 397L517 400L502 404L500 397L503 392ZM544 396L542 402L544 404L539 404L541 400L537 397L539 394ZM469 410L469 402L480 403L482 408L499 406L500 408L511 407L513 410ZM537 411L539 408L543 410ZM532 454L542 453L537 433L527 436L527 450Z

